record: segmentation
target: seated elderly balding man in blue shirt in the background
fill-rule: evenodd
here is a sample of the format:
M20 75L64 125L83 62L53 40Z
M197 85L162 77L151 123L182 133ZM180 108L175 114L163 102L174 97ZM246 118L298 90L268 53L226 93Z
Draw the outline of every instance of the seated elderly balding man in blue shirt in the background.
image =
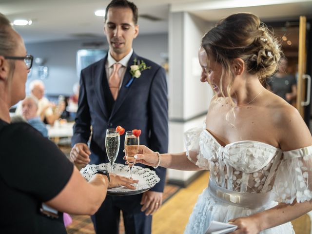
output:
M36 128L43 137L48 137L48 130L45 124L41 121L40 117L37 115L38 111L38 99L34 96L28 96L21 102L22 116L26 121Z

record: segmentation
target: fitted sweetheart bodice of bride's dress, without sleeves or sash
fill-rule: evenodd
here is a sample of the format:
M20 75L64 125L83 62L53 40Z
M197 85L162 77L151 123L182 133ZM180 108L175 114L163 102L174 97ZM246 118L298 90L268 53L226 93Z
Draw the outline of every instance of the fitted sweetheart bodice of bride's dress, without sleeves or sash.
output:
M242 193L272 189L271 180L282 155L279 149L259 141L237 141L222 147L206 129L199 145L208 161L210 178L218 186Z

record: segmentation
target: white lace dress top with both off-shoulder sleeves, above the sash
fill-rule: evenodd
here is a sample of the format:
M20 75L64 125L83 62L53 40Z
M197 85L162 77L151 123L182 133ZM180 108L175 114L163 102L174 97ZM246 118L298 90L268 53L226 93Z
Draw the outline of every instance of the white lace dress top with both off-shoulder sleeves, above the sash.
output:
M221 146L206 129L185 133L187 155L197 153L197 166L210 170L217 186L241 193L273 191L275 200L310 200L312 146L282 152L259 141L237 141ZM189 157L190 159L190 157Z

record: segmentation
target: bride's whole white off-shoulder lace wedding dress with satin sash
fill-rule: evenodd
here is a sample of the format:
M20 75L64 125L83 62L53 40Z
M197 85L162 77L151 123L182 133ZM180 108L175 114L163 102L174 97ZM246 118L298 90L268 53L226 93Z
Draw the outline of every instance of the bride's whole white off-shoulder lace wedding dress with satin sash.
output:
M196 152L196 165L210 170L210 181L198 197L184 234L204 234L212 220L228 222L272 208L277 202L312 198L312 146L282 152L259 141L237 141L222 147L202 128L187 131L185 143L187 155ZM290 222L261 232L292 233Z

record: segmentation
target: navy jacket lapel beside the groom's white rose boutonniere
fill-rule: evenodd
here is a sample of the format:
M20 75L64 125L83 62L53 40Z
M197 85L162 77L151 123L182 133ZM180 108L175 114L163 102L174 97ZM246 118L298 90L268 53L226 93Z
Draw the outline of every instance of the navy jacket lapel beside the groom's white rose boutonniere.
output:
M131 89L133 83L136 81L136 78L135 78L133 80L133 82L131 83L131 85L126 87L126 85L128 84L129 80L132 78L132 75L130 74L130 66L133 65L133 61L134 61L135 58L137 58L137 55L135 54L135 52L133 52L131 58L129 59L129 62L128 62L128 65L127 65L127 69L126 69L126 73L125 73L125 76L123 77L122 85L120 87L117 99L115 101L115 105L113 107L111 117L113 117L114 114L117 112L117 110L120 108L121 104L123 103L123 101L127 97L127 94L129 93L129 90Z

